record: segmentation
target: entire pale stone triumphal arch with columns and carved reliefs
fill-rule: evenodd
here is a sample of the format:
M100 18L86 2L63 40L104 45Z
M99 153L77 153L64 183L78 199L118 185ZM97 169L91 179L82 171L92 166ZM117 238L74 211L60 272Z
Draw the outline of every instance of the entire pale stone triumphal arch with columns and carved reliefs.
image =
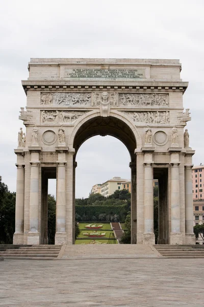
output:
M22 81L14 244L47 244L47 186L57 179L55 244L74 244L75 156L96 135L130 152L132 236L155 244L153 180L159 180L158 244L193 244L192 155L179 60L32 58Z

